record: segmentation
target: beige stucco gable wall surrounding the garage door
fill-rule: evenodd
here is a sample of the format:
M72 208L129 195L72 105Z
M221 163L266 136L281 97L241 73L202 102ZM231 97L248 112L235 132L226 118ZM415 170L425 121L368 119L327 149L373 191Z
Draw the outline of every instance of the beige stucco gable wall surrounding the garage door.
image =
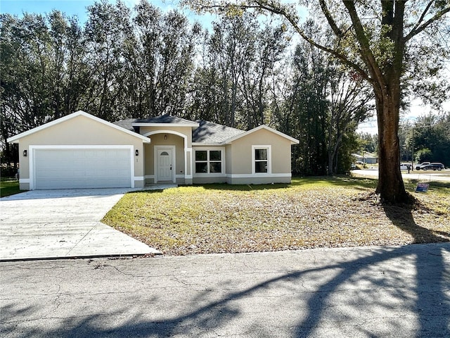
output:
M117 130L84 115L51 125L19 139L20 178L30 179L30 158L24 157L23 151L30 146L43 145L130 145L139 151L134 156L134 176L143 177L143 140L131 134ZM143 186L143 180L135 180L135 187ZM30 189L28 183L23 183L20 189Z

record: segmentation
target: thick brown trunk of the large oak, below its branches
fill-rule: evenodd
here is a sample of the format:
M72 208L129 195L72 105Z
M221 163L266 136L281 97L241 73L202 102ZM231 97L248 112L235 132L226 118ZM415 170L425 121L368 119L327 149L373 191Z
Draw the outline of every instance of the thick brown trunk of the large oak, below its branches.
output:
M376 93L378 115L378 186L383 202L402 203L408 199L400 171L399 102L397 93Z

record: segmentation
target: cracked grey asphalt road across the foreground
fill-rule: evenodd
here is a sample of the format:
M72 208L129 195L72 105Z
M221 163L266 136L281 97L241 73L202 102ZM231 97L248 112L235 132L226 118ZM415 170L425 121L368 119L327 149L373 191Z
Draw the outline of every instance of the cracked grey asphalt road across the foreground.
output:
M450 244L0 263L1 337L450 337Z

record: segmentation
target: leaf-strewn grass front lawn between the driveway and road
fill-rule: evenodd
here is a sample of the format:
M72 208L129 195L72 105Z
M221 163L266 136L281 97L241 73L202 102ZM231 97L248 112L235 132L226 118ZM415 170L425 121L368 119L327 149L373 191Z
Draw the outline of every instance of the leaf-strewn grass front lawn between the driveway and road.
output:
M402 245L450 240L450 184L383 206L375 180L294 178L126 194L103 222L170 255Z

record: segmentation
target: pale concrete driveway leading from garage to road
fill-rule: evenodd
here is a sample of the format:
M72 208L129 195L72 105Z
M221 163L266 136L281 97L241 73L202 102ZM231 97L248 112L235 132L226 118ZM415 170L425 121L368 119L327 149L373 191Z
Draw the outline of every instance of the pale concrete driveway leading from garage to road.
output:
M159 253L100 222L131 189L34 190L0 199L0 261Z

